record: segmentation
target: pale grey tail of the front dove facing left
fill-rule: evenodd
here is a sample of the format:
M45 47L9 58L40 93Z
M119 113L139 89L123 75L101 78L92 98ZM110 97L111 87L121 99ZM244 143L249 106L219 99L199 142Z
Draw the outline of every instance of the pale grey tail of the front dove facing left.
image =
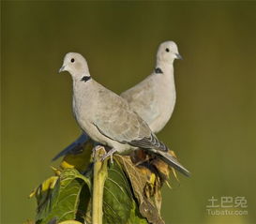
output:
M184 166L182 166L178 162L178 160L175 157L173 157L171 154L169 154L168 152L154 150L154 153L157 154L159 158L161 158L164 162L169 164L171 167L173 167L178 172L181 172L182 174L184 174L186 176L190 176L190 172L188 172L188 170Z

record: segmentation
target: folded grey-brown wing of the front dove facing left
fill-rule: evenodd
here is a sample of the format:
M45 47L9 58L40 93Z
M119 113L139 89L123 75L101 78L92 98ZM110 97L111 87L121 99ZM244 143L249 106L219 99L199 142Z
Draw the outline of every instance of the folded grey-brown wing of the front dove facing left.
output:
M163 143L158 142L143 119L130 109L124 98L107 89L101 89L98 94L100 102L94 125L102 135L135 147L168 150Z

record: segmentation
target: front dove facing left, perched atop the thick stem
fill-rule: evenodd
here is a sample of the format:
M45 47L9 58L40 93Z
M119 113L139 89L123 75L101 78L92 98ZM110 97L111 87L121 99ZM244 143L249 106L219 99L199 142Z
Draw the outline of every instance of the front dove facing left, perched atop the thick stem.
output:
M83 132L93 141L111 148L102 159L115 152L129 155L131 151L142 148L164 157L177 171L189 174L175 157L163 153L168 151L167 146L158 141L126 99L92 79L87 62L81 54L67 53L59 71L68 71L72 77L73 112Z

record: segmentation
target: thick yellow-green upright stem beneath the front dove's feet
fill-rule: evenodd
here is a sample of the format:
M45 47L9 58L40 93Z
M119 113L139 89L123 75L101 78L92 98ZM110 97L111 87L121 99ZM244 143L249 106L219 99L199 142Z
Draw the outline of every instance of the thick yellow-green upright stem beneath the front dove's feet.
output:
M107 164L108 159L101 161L100 158L105 154L104 148L95 151L94 158L94 182L93 182L93 214L94 224L102 224L102 206L103 206L103 190L104 183L108 176Z

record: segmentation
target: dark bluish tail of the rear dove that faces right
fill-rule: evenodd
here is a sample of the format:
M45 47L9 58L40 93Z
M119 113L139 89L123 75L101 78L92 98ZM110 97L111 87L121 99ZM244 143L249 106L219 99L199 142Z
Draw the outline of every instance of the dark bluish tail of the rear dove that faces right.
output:
M70 143L68 147L66 147L55 157L53 157L52 160L55 161L59 157L66 156L67 154L77 154L78 152L80 152L81 148L83 147L83 144L87 142L88 139L89 137L86 134L82 134L75 142Z

